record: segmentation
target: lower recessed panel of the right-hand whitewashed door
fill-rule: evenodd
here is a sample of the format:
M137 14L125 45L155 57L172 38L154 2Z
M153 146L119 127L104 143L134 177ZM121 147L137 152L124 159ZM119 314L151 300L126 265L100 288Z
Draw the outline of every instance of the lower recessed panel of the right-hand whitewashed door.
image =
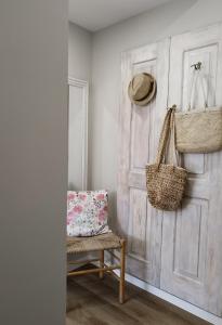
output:
M173 272L204 284L208 200L184 199L174 214ZM188 245L187 245L188 242Z

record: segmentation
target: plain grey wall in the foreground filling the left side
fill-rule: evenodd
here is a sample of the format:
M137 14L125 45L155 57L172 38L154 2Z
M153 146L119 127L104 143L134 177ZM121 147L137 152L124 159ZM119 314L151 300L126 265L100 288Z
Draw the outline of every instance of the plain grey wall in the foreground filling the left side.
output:
M65 324L67 8L0 1L0 324Z

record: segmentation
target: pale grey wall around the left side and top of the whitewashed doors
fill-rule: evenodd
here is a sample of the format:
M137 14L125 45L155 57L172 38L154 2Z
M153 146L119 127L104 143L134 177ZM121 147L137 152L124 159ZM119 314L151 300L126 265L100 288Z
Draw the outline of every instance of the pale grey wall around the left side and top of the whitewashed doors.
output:
M221 0L175 0L93 35L90 184L112 192L116 214L120 53L222 21ZM121 109L121 108L120 108Z

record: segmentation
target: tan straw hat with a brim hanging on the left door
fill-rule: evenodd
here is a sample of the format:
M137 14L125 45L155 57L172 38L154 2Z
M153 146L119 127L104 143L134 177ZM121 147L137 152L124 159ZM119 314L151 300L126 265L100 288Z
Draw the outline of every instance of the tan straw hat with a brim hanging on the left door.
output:
M156 94L156 80L146 73L135 75L129 83L128 94L132 103L147 105Z

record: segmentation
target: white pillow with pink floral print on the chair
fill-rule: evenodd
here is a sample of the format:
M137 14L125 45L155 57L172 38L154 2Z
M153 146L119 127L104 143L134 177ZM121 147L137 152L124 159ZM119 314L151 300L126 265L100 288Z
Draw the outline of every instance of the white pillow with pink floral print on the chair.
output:
M67 193L67 235L93 236L109 232L108 195L104 190Z

